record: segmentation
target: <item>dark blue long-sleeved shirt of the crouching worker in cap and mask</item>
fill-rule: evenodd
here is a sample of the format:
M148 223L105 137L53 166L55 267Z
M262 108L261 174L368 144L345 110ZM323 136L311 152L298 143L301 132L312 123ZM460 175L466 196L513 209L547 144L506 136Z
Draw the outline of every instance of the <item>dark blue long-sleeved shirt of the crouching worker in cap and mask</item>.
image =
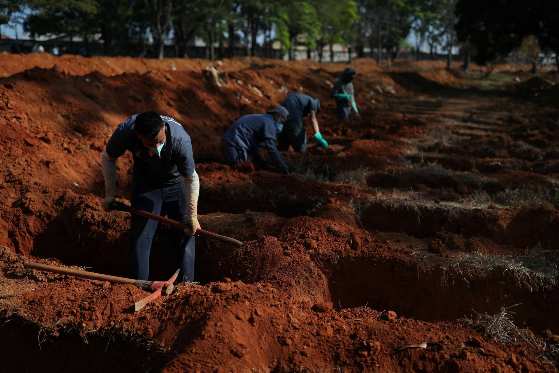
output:
M266 149L280 172L287 169L276 149L276 121L270 114L249 114L240 117L231 125L222 139L235 148L245 150L259 164L266 162L260 154L263 149Z

